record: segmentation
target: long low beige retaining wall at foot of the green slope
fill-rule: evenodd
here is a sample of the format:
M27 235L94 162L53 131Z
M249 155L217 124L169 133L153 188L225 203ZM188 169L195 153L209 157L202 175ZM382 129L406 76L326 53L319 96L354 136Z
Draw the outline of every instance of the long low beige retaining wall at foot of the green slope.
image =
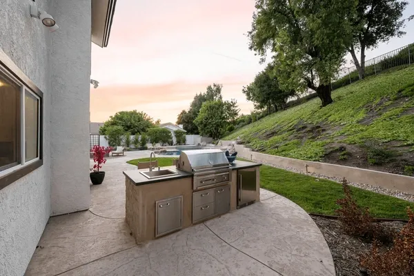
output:
M222 141L224 146L234 141ZM348 166L340 166L335 164L327 164L315 161L306 161L293 159L288 157L280 157L276 155L266 155L260 152L254 152L251 148L246 148L244 145L235 145L237 156L259 163L274 164L276 166L284 166L313 172L328 177L346 177L348 181L368 184L372 186L379 186L391 190L400 190L404 193L414 194L414 177L405 175L395 175L388 172L378 172L376 170L366 170L364 168L353 168Z

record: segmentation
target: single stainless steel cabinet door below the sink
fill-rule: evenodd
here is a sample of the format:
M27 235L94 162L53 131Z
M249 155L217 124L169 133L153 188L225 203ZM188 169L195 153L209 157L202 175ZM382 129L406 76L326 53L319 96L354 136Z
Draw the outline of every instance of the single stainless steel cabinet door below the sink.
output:
M182 228L183 196L171 197L155 202L155 237Z

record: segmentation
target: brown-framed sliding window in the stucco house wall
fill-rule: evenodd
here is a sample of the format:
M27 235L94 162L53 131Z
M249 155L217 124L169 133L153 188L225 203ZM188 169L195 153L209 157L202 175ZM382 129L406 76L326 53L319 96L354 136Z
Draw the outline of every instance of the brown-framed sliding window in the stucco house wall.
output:
M42 164L42 94L14 74L0 62L0 189Z

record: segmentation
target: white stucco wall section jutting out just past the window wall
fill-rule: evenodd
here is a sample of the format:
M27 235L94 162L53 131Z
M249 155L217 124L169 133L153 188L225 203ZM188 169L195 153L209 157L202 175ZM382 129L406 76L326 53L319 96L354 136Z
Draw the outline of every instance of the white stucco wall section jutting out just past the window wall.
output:
M50 1L51 215L86 210L89 193L90 0Z

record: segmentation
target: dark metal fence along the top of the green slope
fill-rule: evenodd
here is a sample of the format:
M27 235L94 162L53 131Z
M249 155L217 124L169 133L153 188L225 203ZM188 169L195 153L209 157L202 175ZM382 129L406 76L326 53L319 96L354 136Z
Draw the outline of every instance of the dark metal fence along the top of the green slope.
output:
M414 63L414 43L392 50L384 55L365 61L365 76L377 75L391 68L410 66ZM356 66L342 68L337 73L337 79L332 82L332 90L347 86L359 80Z

